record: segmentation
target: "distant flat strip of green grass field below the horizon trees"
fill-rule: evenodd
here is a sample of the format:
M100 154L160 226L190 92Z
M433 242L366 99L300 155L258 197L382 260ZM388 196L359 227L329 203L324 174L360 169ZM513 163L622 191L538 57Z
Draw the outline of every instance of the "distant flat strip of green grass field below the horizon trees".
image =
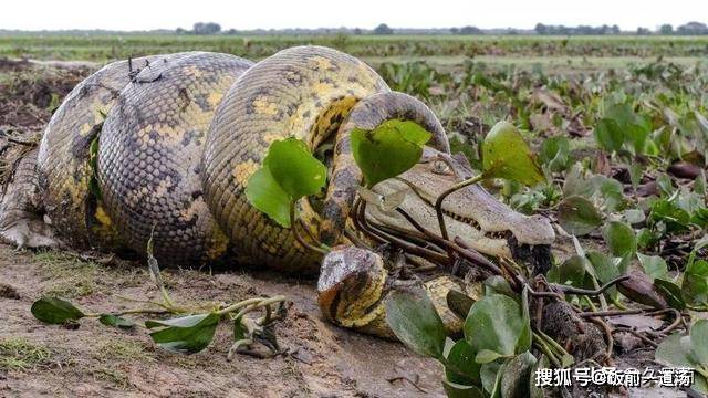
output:
M200 50L261 59L293 45L332 46L355 56L708 56L708 36L532 35L0 35L0 56L94 60Z

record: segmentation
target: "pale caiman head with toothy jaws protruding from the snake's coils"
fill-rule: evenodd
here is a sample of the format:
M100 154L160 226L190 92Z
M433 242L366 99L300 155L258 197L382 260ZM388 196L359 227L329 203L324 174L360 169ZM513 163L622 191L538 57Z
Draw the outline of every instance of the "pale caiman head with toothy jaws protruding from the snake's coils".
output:
M386 197L409 189L399 208L423 227L439 234L434 206L437 197L448 187L471 176L473 171L466 159L426 148L416 166L397 179L379 182L374 191ZM371 222L398 230L415 230L396 211L384 212L375 206L367 206L366 209ZM534 272L543 272L550 264L550 244L555 233L549 220L512 210L479 185L462 188L447 197L442 213L449 237L459 237L467 245L483 254L530 262Z

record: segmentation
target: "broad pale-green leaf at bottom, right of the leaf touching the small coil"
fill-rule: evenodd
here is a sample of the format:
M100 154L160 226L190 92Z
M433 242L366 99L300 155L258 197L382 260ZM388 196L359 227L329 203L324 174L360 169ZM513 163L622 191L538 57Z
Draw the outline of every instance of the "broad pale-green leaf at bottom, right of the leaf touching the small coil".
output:
M513 298L493 294L472 305L464 329L465 338L476 352L488 349L512 356L524 329L524 321Z

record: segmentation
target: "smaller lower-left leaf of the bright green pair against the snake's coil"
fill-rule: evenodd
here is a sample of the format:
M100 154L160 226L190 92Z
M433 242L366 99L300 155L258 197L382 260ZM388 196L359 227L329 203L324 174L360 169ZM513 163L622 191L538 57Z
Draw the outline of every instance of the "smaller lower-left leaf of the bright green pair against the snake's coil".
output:
M268 167L262 167L249 178L246 198L254 208L268 214L284 228L290 228L290 203L288 196L273 178Z

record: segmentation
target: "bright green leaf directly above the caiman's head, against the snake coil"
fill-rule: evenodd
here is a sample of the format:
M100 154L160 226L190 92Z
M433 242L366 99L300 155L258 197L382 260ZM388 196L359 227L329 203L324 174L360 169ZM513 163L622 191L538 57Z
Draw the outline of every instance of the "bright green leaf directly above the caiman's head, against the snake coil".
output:
M386 121L373 130L355 128L351 135L352 155L364 174L366 187L372 188L415 166L430 136L410 121Z

